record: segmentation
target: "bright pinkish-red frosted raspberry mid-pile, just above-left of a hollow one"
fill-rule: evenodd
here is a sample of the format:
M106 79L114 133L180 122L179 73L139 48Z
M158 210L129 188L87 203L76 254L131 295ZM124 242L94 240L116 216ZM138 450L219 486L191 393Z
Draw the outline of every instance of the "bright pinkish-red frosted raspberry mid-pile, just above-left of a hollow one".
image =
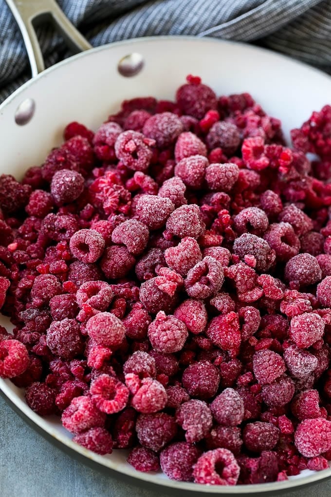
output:
M182 276L186 276L202 258L197 241L190 237L183 238L177 247L167 248L164 256L168 266Z

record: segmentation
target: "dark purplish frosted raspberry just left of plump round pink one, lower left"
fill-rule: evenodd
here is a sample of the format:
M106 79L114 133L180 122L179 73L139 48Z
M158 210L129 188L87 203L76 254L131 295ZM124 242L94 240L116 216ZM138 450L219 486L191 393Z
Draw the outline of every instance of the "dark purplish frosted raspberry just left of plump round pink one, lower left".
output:
M83 351L79 324L75 319L53 321L46 335L46 343L53 354L73 359Z

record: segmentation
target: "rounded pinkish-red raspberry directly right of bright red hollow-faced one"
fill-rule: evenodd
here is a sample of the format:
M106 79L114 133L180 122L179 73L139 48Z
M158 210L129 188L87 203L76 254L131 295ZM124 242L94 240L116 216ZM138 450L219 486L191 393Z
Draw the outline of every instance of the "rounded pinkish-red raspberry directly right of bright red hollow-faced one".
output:
M167 392L161 383L151 378L145 378L141 387L132 397L132 407L142 414L161 411L167 403Z

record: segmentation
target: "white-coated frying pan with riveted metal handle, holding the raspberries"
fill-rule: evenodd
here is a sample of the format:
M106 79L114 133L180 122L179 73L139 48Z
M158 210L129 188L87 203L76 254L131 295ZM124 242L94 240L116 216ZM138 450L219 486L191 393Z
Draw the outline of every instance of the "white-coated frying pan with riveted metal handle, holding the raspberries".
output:
M151 37L91 49L53 0L7 0L22 31L33 79L0 105L0 173L17 178L40 165L62 142L66 124L76 120L96 129L124 99L153 95L173 99L188 74L199 75L218 94L248 91L270 115L283 122L285 137L313 110L328 103L331 78L322 72L267 50L229 41L193 37ZM84 50L45 71L34 31L52 20L74 51ZM0 324L10 329L9 320ZM154 485L174 494L277 493L331 476L331 469L304 471L288 481L239 487L175 482L161 474L135 471L125 451L99 456L71 441L59 419L42 418L28 408L24 392L0 379L0 391L27 422L72 456L99 470L116 472L135 484Z

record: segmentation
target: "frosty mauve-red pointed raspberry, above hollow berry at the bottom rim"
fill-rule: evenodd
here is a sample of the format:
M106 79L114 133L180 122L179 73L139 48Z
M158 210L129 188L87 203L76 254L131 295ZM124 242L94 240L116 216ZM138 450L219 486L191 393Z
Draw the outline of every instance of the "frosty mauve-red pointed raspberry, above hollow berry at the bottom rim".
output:
M244 418L244 403L232 388L226 388L210 404L210 410L218 424L238 426Z

